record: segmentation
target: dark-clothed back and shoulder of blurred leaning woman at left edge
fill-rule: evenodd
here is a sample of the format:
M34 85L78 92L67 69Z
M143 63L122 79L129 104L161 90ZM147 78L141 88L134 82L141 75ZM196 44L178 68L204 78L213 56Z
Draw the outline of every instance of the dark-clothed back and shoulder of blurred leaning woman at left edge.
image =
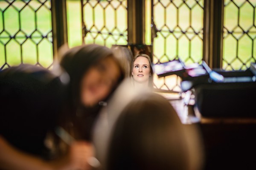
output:
M0 135L20 150L44 155L44 138L56 125L65 90L46 68L22 64L0 71Z

